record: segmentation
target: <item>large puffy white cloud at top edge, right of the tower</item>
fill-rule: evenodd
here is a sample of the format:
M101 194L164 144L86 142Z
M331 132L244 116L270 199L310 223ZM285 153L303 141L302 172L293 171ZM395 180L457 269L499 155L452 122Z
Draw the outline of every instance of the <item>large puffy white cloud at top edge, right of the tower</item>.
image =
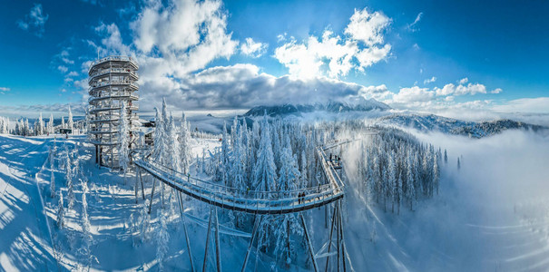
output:
M181 77L229 58L239 43L227 33L226 17L221 1L150 2L131 23L140 63L154 75Z

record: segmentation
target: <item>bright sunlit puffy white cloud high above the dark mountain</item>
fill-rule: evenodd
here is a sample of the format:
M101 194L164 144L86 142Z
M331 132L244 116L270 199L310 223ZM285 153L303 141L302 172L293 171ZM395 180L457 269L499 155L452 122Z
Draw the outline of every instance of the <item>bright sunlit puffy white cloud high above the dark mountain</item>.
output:
M390 53L391 45L382 44L383 31L389 24L390 19L378 12L355 10L345 30L348 37L325 30L322 37L311 35L303 43L291 39L279 46L274 56L290 74L304 78L322 74L336 78L347 75L351 69L364 72Z

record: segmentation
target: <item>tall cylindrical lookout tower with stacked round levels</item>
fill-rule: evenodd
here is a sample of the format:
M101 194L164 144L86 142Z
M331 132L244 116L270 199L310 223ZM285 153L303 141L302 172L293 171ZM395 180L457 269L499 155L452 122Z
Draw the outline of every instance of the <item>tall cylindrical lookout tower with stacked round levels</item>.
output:
M118 131L123 102L130 128L130 148L139 126L136 111L139 65L129 56L108 56L94 61L88 71L88 138L95 145L95 162L118 168Z

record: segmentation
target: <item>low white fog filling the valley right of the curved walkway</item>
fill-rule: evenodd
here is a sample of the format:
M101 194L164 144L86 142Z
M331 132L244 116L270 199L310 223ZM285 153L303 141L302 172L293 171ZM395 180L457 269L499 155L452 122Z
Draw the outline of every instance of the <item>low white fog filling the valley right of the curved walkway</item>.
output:
M505 131L475 140L409 132L447 150L440 194L420 200L414 211L384 212L359 193L349 163L346 237L355 269L549 269L548 136ZM359 148L348 146L343 159L357 161Z

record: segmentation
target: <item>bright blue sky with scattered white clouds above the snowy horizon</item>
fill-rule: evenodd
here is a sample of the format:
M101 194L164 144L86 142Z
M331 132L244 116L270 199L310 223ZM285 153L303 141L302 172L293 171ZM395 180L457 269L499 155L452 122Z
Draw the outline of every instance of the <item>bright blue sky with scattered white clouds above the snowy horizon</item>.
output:
M139 61L144 111L162 97L208 110L362 96L424 112L549 112L549 4L3 4L0 114L82 109L97 51Z

